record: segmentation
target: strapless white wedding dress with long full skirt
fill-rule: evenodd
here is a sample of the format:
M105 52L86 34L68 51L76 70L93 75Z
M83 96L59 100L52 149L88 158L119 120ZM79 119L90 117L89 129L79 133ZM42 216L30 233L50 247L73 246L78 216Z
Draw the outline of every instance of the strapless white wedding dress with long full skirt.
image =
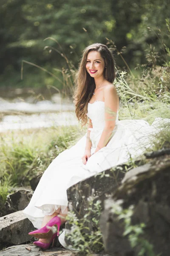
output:
M105 104L102 101L88 103L88 117L92 120L90 128L92 141L91 153L96 149L105 126ZM170 119L156 118L152 125L144 120L122 120L116 115L113 137L108 145L93 154L86 165L82 163L85 151L86 135L73 147L60 153L48 166L23 213L40 228L45 215L53 214L58 208L67 213L67 189L73 184L122 164L131 157L136 157L150 146L150 135L159 131L162 121Z

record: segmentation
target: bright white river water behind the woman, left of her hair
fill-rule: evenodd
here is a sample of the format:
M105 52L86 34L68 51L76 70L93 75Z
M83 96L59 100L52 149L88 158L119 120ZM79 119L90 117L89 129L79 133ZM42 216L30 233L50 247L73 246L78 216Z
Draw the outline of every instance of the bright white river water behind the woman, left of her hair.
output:
M51 99L0 98L0 132L17 129L77 125L74 104L53 94Z

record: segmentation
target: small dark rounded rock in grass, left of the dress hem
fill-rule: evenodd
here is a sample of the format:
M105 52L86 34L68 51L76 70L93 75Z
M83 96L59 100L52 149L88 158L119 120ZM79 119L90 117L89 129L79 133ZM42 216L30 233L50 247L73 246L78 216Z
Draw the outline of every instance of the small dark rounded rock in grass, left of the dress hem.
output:
M6 197L6 214L23 210L29 204L33 191L28 189L18 189Z

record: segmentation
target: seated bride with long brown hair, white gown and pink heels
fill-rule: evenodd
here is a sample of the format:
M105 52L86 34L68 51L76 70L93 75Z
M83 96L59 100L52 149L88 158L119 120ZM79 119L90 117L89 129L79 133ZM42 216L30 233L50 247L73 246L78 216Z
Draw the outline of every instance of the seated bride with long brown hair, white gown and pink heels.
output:
M148 147L153 132L144 120L118 119L119 97L113 85L114 60L104 44L85 48L75 77L75 111L87 133L73 147L60 153L48 166L24 209L33 223L29 235L47 249L59 235L68 213L67 189L98 172L126 162ZM146 136L147 135L147 136ZM53 227L57 232L52 232Z

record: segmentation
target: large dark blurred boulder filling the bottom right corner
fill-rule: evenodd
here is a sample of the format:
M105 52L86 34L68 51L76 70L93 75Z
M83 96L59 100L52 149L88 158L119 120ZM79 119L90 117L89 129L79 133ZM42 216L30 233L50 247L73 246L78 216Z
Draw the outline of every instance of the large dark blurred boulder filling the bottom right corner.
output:
M129 236L123 235L125 221L118 219L115 205L122 209L133 205L130 225L145 224L140 239L153 245L155 255L170 255L170 155L157 157L127 172L122 185L105 201L100 228L106 252L137 256L142 245L138 240L136 247L130 246ZM130 234L137 236L133 231Z

